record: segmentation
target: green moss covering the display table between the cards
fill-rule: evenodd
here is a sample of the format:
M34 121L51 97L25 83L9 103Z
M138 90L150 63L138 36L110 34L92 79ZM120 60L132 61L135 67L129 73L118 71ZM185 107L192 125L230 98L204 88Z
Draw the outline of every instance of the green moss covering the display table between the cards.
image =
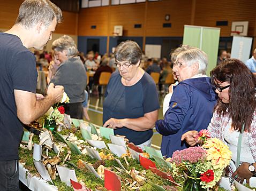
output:
M81 136L81 132L78 129L77 131L73 132L72 130L68 130L65 129L62 132L60 132L60 134L70 134L73 133L74 136L77 136L78 139L82 139ZM57 142L59 139L57 136L55 136L55 141ZM108 142L110 142L110 140L103 138L102 139L104 142L106 142L106 144ZM33 137L33 142L36 142L37 144L39 143L39 136L34 136ZM86 144L88 145L88 144ZM64 147L63 148L64 151L61 153L61 155L59 157L61 157L61 159L63 160L64 157L67 154L67 150L70 150L69 147ZM110 150L108 149L97 149L99 152L103 152L105 155L111 153ZM46 153L46 150L43 149L42 151L44 154ZM19 149L19 155L20 155L20 162L25 163L25 168L29 170L29 172L32 175L36 175L39 176L39 174L37 173L35 167L34 167L34 162L33 162L33 150L27 150L27 149ZM56 156L56 153L54 153L54 150L49 150L48 155L51 157ZM135 168L135 170L137 171L143 171L144 168L140 165L140 163L137 160L133 160L132 158L128 158L126 157L127 162L129 163L129 166L126 165L124 158L119 158L116 155L114 155L116 158L118 158L121 163L123 164L123 166L130 171L132 168ZM74 165L77 165L78 160L82 160L85 161L86 163L91 163L94 164L97 160L95 158L91 158L89 155L77 155L75 153L71 153L71 161L69 161L70 163L73 163ZM101 180L99 178L96 178L94 176L93 173L88 172L86 170L81 170L78 168L74 168L74 166L72 166L70 163L65 162L65 164L67 165L67 168L72 168L76 170L76 176L78 181L82 181L85 183L85 185L88 188L91 189L99 189L99 190L106 190L106 188L104 188L104 180ZM111 169L112 171L115 171L118 176L121 177L121 180L123 180L122 182L125 182L125 179L131 179L131 176L127 173L120 173L118 172L114 166L120 168L120 166L118 165L118 163L115 160L105 160L105 164L106 167ZM161 166L159 166L159 168L162 171L168 172L167 169L162 168ZM97 170L96 170L97 171ZM156 176L152 171L150 170L146 170L146 181L144 182L143 185L141 185L140 190L156 190L155 188L153 188L148 182L153 182L154 184L157 185L170 185L171 186L171 182L162 179L159 176ZM53 180L54 185L58 188L58 190L65 190L65 191L69 191L72 190L71 187L67 186L64 182L61 182L59 176L56 177L56 180ZM122 188L124 188L124 185L122 183Z

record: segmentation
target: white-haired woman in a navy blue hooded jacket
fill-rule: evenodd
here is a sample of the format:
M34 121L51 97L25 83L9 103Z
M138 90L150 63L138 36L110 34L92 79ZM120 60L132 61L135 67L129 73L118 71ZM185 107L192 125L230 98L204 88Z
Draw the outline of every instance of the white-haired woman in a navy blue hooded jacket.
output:
M177 55L173 71L179 84L174 87L164 120L156 122L156 131L163 135L161 152L167 157L189 146L180 140L183 133L206 129L212 118L216 94L205 75L207 65L206 53L196 47L187 46Z

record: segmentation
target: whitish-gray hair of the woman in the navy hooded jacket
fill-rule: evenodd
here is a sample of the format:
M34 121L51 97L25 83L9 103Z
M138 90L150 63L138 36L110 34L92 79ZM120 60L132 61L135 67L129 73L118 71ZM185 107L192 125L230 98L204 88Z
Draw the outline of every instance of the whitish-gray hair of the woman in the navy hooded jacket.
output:
M205 74L208 66L208 56L204 51L197 47L187 46L186 50L181 51L176 59L182 59L186 62L187 66L193 65L198 62L198 73Z

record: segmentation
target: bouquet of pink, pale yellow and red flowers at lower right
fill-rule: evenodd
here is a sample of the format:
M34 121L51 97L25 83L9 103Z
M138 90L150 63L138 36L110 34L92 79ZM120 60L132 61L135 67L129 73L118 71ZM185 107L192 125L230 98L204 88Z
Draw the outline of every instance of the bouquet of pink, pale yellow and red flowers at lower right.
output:
M206 131L207 132L207 131ZM206 136L204 136L206 137ZM206 190L213 188L229 165L231 151L217 138L206 138L201 147L177 150L172 155L172 166L185 165L187 179L183 190Z

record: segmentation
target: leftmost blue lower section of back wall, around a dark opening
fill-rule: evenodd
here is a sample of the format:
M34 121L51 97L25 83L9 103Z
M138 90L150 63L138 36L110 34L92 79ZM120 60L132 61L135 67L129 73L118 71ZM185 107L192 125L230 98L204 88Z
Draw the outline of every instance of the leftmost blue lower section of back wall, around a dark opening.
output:
M107 52L107 36L78 36L78 51L87 53L87 39L100 40L100 54Z

